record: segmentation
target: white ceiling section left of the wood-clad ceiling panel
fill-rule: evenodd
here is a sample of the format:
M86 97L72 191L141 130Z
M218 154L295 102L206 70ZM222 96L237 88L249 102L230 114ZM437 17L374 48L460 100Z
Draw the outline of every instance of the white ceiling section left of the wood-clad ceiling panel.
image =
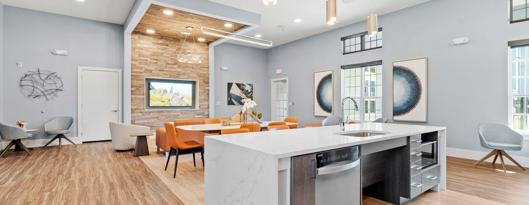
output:
M115 24L123 24L134 0L0 0L4 5L28 8Z

